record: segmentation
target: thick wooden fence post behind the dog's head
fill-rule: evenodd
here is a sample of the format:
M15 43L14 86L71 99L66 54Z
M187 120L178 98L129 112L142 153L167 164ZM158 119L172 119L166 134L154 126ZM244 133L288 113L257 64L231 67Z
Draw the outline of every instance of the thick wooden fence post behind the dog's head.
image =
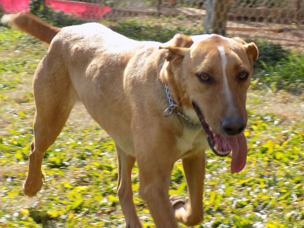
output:
M207 0L204 33L225 35L229 0Z

